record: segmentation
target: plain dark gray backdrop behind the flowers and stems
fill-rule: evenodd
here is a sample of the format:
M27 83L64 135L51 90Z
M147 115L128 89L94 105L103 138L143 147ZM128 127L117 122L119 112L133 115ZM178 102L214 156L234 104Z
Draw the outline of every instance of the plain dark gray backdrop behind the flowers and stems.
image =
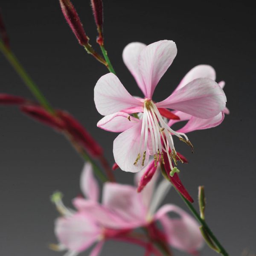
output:
M89 2L74 0L74 5L97 48ZM12 49L49 102L73 113L104 145L113 163L112 142L117 134L96 128L101 116L93 103L93 87L107 70L79 47L58 1L2 0L0 5ZM169 95L197 64L212 65L217 81L226 81L231 114L217 128L189 134L195 147L193 155L188 147L176 143L190 161L180 177L194 198L198 185L205 185L207 222L230 255L241 255L244 248L255 254L254 9L246 1L111 0L105 1L104 7L106 48L130 93L141 95L121 57L131 41L150 44L171 39L177 44L177 57L157 87L156 101ZM3 55L0 91L32 99ZM56 241L53 223L58 216L49 195L61 190L70 205L80 192L83 163L61 135L14 107L0 107L0 124L0 255L62 255L47 248ZM124 183L133 179L132 174L120 170L116 177ZM166 202L185 209L174 190ZM143 250L108 242L102 253L120 254L142 255ZM201 255L216 254L205 246Z

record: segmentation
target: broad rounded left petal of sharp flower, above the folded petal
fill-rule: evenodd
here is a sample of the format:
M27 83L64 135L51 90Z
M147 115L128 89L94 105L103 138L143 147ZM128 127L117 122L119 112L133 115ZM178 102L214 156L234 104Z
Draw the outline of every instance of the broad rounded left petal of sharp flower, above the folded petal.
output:
M94 87L94 102L98 112L103 116L125 108L142 106L142 103L128 93L113 73L108 73L97 81Z

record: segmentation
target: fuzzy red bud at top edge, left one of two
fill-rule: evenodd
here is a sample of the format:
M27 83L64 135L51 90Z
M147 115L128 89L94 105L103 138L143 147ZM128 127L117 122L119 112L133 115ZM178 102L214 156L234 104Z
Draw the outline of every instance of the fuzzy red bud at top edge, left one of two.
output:
M70 28L72 29L73 33L76 35L79 44L85 46L88 44L89 38L84 32L83 25L80 21L80 18L76 12L75 7L70 2L70 0L59 0L61 5L61 11L67 20Z

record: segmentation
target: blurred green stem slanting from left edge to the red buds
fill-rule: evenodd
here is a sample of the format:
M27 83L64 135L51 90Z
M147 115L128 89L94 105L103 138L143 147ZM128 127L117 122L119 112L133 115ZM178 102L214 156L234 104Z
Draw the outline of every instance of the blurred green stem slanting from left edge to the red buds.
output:
M31 77L26 73L26 70L21 66L15 55L3 44L2 40L0 40L0 50L1 52L3 52L3 55L5 55L7 60L10 62L12 67L15 69L15 71L18 73L20 78L24 81L26 86L29 88L29 90L35 96L38 102L42 105L42 107L44 107L50 113L54 113L54 110L50 106L47 99L38 89L36 84L32 81Z

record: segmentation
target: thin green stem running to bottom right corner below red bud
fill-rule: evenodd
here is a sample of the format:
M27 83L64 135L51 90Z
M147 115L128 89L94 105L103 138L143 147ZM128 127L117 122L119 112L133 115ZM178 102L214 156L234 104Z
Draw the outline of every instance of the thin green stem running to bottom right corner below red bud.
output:
M175 188L176 189L176 188ZM176 189L177 191L177 189ZM178 191L177 191L178 192ZM204 229L207 231L208 235L210 236L210 238L212 239L212 241L215 243L215 245L218 247L219 249L219 253L223 256L228 256L228 253L226 252L226 250L222 247L222 245L220 244L220 242L218 241L218 239L214 236L214 234L212 233L212 230L208 227L208 225L206 224L206 222L200 217L200 215L198 214L198 212L196 211L196 209L193 207L193 205L186 199L183 197L183 195L180 194L180 192L178 192L178 194L180 195L180 197L183 199L183 201L185 202L185 204L187 205L187 207L189 207L190 211L193 213L193 215L195 216L195 218L198 220L198 222L201 223L201 225L204 227Z

